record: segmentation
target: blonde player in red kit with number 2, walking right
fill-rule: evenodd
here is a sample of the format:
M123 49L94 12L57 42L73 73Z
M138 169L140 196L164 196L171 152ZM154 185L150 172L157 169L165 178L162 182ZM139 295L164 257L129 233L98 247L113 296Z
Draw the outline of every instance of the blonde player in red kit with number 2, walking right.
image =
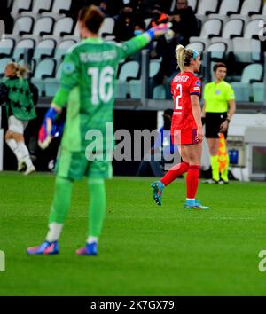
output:
M195 200L200 173L203 130L201 123L200 93L201 82L194 73L200 72L200 54L191 49L185 50L179 44L176 47L176 59L180 73L171 83L175 101L171 125L171 136L178 145L182 162L169 169L167 174L152 184L153 199L161 205L163 188L176 177L187 172L185 209L208 209Z

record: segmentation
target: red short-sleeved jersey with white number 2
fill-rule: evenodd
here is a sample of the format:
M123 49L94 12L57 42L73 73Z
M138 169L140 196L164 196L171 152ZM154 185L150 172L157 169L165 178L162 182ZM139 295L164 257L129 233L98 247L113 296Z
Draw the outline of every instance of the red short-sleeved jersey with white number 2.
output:
M200 97L200 79L191 72L179 73L171 82L171 92L175 101L172 133L174 130L197 130L197 124L192 114L191 95Z

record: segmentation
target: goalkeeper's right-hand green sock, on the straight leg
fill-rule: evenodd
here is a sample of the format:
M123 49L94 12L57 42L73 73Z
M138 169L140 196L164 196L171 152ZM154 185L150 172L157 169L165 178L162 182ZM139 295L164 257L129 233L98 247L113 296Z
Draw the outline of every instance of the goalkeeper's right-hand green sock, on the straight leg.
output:
M88 182L89 206L89 237L88 243L98 242L106 214L106 187L103 179L90 179Z

